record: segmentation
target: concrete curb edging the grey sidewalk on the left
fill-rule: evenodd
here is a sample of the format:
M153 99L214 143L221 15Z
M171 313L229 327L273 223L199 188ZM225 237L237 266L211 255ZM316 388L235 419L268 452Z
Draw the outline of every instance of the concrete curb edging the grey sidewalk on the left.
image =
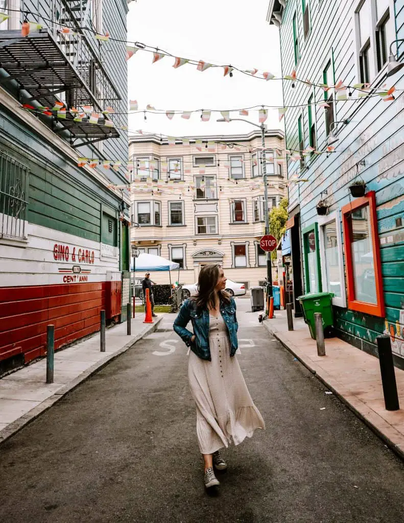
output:
M102 360L94 363L94 365L92 365L87 370L79 374L77 378L75 378L70 383L64 385L61 389L59 389L58 392L55 392L52 396L42 401L39 405L32 408L29 412L23 414L13 423L10 423L6 428L0 430L0 445L2 445L8 438L14 436L14 434L21 430L21 428L28 425L28 423L30 423L33 419L36 419L40 414L47 411L48 408L50 408L54 403L59 401L63 396L68 394L68 392L74 390L78 385L80 385L80 383L83 383L83 381L93 376L93 374L105 367L110 361L114 360L121 354L124 354L128 349L133 347L133 345L136 344L144 336L147 336L148 334L154 332L156 328L159 326L160 322L163 320L163 317L164 316L160 316L155 323L153 323L152 325L147 325L141 333L134 336L134 338L132 338L130 342L128 342L126 345L124 345L124 347L121 347L115 353L108 354L108 356L106 356Z

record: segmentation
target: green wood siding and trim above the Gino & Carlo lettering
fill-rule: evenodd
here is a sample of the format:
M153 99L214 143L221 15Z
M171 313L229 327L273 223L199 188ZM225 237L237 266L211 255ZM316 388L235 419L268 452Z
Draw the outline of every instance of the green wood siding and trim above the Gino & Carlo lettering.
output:
M2 111L0 147L30 169L28 222L101 241L102 204L117 213L118 197Z

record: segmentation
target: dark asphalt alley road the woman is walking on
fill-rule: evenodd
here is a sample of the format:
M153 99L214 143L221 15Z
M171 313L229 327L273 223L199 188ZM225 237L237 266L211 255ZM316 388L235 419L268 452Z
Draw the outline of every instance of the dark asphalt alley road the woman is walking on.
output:
M0 447L0 521L402 523L404 464L248 306L238 299L238 358L267 428L225 451L216 492L167 316Z

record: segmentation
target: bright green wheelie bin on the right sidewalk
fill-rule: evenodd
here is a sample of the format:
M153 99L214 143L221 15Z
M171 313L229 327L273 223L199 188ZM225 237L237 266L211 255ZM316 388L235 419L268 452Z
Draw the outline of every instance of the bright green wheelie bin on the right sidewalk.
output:
M303 317L309 326L313 339L316 339L316 327L314 323L315 312L321 312L322 314L324 337L331 337L333 335L334 317L331 305L333 295L333 292L317 292L298 297L303 311Z

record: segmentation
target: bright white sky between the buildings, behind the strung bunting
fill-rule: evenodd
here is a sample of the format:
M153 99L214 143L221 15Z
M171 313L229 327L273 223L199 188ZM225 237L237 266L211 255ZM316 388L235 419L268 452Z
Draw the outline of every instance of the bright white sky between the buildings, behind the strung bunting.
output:
M255 67L261 73L280 76L279 33L266 21L268 4L268 0L138 0L129 5L128 42L140 41L182 58L230 63L241 69ZM165 56L154 64L152 58L152 53L138 51L128 61L128 98L138 100L139 109L147 104L156 109L189 111L282 106L280 80L265 82L237 71L232 78L223 77L221 68L200 72L190 64L174 69L173 58ZM182 137L255 129L243 122L217 123L217 118L220 113L212 113L209 122L200 120L200 112L189 120L148 113L144 121L143 114L130 115L129 134L142 129ZM245 118L258 123L255 111ZM269 111L266 124L268 129L283 128L276 109Z

